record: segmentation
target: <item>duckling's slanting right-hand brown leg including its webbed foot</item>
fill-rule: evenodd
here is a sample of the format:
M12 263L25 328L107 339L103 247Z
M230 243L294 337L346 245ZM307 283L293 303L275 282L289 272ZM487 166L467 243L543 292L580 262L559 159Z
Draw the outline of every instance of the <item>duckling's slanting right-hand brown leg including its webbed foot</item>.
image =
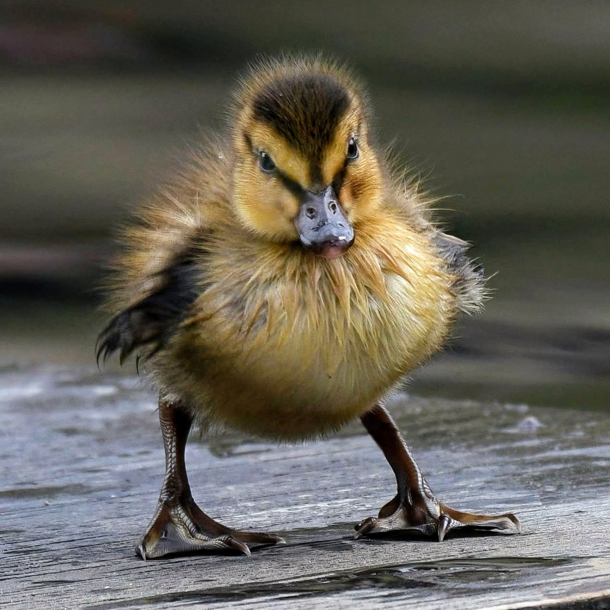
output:
M489 529L514 534L521 531L519 519L511 513L476 515L445 506L432 492L409 447L390 414L375 406L362 415L362 423L386 456L398 483L398 493L379 511L356 526L356 537L390 531L419 531L438 536L439 542L454 528Z

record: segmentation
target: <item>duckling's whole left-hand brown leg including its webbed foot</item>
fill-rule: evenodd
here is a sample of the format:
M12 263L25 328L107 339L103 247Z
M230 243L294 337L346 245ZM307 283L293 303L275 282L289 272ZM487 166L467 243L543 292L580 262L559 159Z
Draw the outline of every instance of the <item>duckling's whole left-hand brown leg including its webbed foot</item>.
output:
M242 532L208 517L195 504L188 485L184 450L193 417L179 402L159 398L159 420L165 446L165 479L159 503L136 551L142 559L197 551L238 551L247 544L277 544L279 536Z

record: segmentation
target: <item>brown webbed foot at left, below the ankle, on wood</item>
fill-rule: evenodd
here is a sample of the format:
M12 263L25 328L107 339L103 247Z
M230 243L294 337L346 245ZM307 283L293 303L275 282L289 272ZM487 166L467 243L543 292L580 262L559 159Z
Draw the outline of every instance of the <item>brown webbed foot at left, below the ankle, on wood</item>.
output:
M136 552L142 559L169 554L233 551L250 554L248 545L284 544L274 534L242 532L208 517L193 498L161 501Z

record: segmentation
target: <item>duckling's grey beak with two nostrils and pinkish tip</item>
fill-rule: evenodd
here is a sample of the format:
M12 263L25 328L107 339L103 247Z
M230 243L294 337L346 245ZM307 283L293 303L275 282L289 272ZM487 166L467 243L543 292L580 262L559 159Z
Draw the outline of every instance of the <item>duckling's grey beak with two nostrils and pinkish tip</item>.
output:
M305 193L295 226L303 246L326 259L339 258L354 243L354 229L332 186Z

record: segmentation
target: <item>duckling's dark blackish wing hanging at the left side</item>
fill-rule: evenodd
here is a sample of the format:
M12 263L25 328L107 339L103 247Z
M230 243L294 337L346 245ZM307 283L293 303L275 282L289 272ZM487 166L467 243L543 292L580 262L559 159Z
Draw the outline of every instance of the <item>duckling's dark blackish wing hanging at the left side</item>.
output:
M116 315L99 334L97 359L119 352L121 364L138 348L152 356L166 345L199 294L195 252L188 251L156 273L157 289Z

